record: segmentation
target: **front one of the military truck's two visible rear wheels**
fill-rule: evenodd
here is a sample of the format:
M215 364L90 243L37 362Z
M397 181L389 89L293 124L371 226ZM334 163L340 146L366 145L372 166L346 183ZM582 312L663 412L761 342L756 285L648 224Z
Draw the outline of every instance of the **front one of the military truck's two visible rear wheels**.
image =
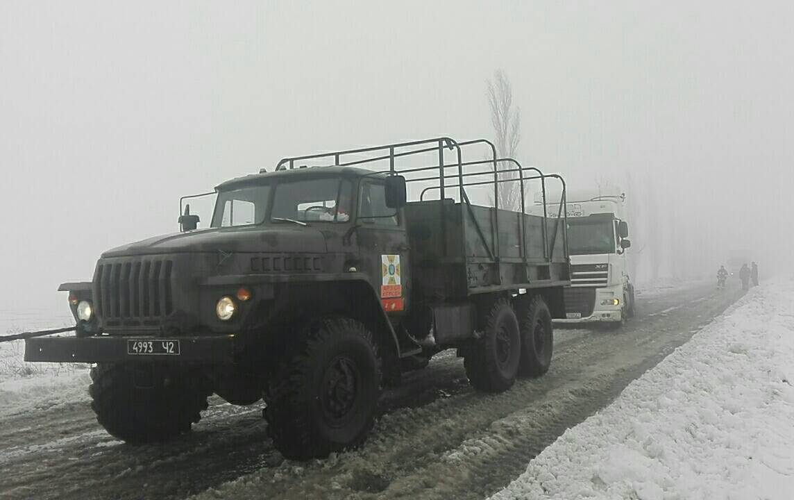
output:
M488 313L484 335L464 357L468 381L489 393L508 390L515 383L520 359L518 319L507 300L497 300Z

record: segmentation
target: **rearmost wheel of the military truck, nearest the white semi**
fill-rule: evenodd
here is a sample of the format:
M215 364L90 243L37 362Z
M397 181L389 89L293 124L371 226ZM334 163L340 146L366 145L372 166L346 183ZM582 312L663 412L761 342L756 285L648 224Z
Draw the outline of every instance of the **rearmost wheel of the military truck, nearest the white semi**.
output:
M521 324L521 374L540 377L549 371L554 351L551 312L543 297L530 301Z

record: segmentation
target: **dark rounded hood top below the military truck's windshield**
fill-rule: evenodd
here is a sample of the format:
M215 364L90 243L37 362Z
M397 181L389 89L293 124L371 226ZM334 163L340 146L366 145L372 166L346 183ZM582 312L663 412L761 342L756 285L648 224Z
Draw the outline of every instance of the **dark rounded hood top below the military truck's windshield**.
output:
M312 227L223 227L172 233L107 250L102 257L195 252L324 253L326 238Z

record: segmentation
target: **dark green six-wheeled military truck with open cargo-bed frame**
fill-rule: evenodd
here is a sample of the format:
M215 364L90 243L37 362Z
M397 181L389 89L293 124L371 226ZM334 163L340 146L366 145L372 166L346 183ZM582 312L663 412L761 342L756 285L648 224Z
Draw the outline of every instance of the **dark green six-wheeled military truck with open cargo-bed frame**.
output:
M475 147L490 158L464 161ZM551 180L485 140L285 158L218 185L209 227L180 201L180 233L108 250L92 281L61 285L75 335L28 339L25 359L95 363L91 408L129 443L189 431L216 393L264 398L287 457L356 447L382 388L440 351L457 348L484 392L549 370L565 215L526 214L523 193ZM499 200L507 182L521 184L517 209L469 199Z

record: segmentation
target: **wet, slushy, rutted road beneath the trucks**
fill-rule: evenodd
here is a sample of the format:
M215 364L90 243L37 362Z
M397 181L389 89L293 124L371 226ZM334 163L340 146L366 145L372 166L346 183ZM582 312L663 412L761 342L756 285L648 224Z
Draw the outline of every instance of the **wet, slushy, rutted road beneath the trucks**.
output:
M384 394L383 415L364 448L323 461L284 461L266 437L260 406L217 398L195 432L161 446L112 440L87 403L2 419L0 498L185 498L204 490L200 497L214 498L214 488L242 498L482 498L733 298L692 289L653 297L647 307L650 313L680 305L672 325L665 324L671 317L657 314L624 331L561 329L549 374L520 380L503 394L474 392L461 359L442 353ZM622 351L638 361L610 361Z

